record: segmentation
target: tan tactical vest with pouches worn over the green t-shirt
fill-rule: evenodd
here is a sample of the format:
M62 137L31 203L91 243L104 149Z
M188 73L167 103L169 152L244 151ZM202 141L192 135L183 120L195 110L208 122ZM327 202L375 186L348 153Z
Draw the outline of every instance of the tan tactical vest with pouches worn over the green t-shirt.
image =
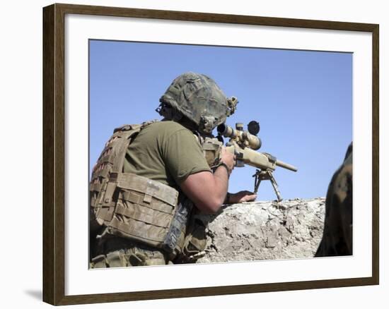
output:
M105 144L91 176L91 230L104 226L104 234L161 248L187 262L198 258L206 246L205 225L196 219L192 202L170 186L122 172L127 147L153 122L117 128ZM219 160L220 143L209 138L199 142L213 166Z

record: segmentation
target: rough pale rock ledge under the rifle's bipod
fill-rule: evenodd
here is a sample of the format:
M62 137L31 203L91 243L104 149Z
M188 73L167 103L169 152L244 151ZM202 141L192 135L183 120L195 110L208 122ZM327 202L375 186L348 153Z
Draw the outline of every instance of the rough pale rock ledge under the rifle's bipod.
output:
M325 199L227 205L208 223L207 254L198 262L313 257L323 236Z

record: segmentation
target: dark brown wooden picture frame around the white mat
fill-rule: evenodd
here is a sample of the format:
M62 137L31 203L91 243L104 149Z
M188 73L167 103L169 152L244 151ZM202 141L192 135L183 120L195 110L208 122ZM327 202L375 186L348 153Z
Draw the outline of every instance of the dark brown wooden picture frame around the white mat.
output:
M372 276L349 279L293 281L268 284L212 286L191 289L135 291L65 295L65 16L115 16L227 23L252 26L308 28L370 32L372 35ZM363 286L379 283L379 110L378 110L378 41L375 24L344 23L323 20L299 20L259 16L235 16L214 13L159 11L138 8L114 8L53 4L43 9L43 301L52 305L135 301L158 298L213 296L233 293L322 289L340 286Z

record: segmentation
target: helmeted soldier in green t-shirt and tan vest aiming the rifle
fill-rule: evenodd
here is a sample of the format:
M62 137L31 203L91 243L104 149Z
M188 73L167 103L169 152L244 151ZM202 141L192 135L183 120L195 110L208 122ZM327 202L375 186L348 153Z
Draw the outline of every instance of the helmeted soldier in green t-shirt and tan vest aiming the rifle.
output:
M255 200L227 193L236 158L202 143L235 104L206 75L184 73L160 99L162 121L115 129L91 177L91 267L196 262L206 246L199 212ZM209 153L208 153L209 154Z

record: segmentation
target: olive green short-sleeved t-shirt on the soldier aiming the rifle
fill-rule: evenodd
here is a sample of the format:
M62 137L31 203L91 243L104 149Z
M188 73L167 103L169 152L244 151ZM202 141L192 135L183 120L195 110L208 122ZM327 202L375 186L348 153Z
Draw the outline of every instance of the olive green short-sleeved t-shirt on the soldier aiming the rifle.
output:
M174 121L146 126L127 148L124 173L134 173L178 189L187 176L211 171L194 134Z

